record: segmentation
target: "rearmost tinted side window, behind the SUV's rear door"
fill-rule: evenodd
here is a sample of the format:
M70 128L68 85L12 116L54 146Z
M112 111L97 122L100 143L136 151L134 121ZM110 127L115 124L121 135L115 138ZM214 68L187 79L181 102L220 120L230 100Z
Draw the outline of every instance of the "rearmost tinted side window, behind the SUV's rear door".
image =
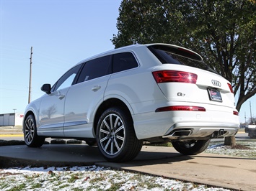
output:
M113 55L113 73L138 67L135 57L131 52L123 52Z

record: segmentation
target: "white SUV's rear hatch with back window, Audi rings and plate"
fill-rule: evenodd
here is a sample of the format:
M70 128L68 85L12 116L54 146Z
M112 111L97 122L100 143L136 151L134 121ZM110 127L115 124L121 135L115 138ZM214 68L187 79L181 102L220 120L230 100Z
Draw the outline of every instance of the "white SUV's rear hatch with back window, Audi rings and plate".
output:
M148 48L162 62L152 73L168 101L234 108L231 84L208 67L200 55L174 45Z

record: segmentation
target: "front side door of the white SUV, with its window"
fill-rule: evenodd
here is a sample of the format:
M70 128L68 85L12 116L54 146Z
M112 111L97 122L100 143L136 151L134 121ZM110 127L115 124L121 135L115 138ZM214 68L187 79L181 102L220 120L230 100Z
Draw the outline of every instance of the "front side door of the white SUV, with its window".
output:
M51 93L46 94L40 104L39 128L42 136L63 136L64 104L66 93L74 82L81 65L65 73L53 86Z

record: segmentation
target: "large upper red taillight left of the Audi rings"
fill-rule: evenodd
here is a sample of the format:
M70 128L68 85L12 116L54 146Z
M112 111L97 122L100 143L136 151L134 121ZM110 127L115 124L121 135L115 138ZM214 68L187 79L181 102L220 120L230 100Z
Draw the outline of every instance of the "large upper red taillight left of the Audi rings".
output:
M161 70L152 73L156 83L196 83L198 75L177 70Z

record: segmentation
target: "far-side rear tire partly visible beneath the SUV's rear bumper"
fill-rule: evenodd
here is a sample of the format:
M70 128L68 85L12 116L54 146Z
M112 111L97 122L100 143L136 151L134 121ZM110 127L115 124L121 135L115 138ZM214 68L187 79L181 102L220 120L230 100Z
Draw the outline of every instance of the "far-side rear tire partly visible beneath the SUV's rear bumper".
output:
M204 152L210 144L210 140L188 140L188 141L174 141L172 146L177 152L185 155L194 155Z

